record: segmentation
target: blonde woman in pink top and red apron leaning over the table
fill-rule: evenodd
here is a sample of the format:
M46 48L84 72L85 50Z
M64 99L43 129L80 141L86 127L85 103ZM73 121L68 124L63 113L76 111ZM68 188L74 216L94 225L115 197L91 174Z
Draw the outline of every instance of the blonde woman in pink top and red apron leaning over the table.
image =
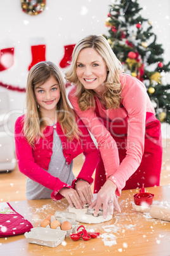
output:
M159 185L162 162L160 122L145 85L123 74L103 36L88 36L72 53L65 75L74 83L69 99L95 136L101 159L96 168L95 215L103 204L113 213L121 190Z

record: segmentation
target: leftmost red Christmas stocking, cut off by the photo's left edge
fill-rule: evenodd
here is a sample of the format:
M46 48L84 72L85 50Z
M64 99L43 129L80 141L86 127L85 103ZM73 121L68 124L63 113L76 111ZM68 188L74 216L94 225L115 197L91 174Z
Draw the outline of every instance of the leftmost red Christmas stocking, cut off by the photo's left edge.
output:
M0 53L0 71L11 68L14 63L14 48L2 49Z

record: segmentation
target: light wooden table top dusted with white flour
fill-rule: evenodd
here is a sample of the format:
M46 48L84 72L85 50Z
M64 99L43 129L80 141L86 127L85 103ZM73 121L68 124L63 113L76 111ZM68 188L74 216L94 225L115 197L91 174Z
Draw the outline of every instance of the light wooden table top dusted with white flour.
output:
M124 190L119 198L122 213L115 211L114 217L101 224L84 224L85 228L100 232L100 238L72 241L55 248L27 242L24 235L0 238L0 255L170 255L170 222L150 218L149 214L133 210L133 195L139 190ZM155 194L154 204L170 204L170 186L147 188ZM56 210L65 211L67 201L51 199L10 202L11 206L27 218L34 227ZM80 224L81 225L81 224Z

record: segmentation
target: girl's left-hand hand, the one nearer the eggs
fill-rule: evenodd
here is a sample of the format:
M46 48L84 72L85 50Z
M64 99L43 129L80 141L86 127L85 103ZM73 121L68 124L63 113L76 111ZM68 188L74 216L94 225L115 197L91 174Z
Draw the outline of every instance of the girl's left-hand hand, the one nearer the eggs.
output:
M79 197L79 194L77 193L77 191L74 188L62 188L59 190L59 193L65 197L65 199L67 199L67 201L69 202L70 206L73 207L73 204L75 206L75 208L77 209L82 209L82 201Z

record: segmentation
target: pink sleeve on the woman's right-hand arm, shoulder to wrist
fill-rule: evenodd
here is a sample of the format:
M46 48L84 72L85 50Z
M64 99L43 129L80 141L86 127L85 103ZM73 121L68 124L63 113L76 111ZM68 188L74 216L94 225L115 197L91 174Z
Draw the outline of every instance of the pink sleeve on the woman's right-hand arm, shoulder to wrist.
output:
M117 171L109 179L114 181L119 190L138 169L144 152L145 119L147 111L147 92L145 85L131 76L126 76L126 85L122 90L122 104L128 111L128 138L126 157Z

